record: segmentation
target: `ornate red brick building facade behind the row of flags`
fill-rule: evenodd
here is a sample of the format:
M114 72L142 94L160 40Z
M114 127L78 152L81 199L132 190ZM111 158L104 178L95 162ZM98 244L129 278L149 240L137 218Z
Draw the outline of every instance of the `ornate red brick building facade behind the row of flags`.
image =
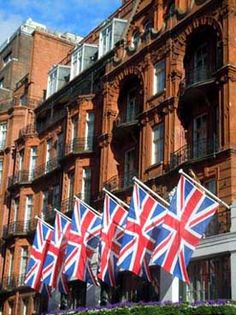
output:
M29 250L35 214L48 222L53 208L70 216L74 195L102 211L103 187L129 202L134 175L168 198L180 168L193 169L231 210L219 209L194 253L190 286L157 270L155 291L123 274L112 299L236 298L235 12L230 0L123 1L68 58L65 49L57 56L62 61L53 61L60 62L49 72L46 99L25 124L35 117L34 132L28 127L17 136L14 128L12 138L13 177L3 212L9 216L1 221L6 314L11 307L29 314L33 293L6 289L4 279L11 279L11 257L17 261L17 253ZM37 60L33 67L41 72ZM40 80L36 75L37 97L45 84ZM27 232L20 228L25 222ZM85 299L78 286L71 284L73 305Z

